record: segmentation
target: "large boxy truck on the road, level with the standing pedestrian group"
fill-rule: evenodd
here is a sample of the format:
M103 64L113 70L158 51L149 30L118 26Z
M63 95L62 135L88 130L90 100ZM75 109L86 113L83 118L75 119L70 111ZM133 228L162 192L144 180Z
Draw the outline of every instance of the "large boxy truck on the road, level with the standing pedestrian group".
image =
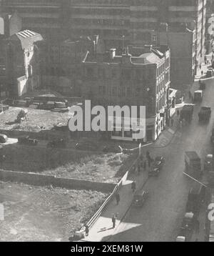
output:
M203 174L201 171L200 157L195 151L187 151L184 156L185 172L193 176L195 179L200 179Z

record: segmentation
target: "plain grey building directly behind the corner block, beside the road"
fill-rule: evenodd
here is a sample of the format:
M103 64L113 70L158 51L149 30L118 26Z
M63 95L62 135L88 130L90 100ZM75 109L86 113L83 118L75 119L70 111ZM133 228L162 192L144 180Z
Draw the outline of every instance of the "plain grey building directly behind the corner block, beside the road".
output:
M170 87L188 91L198 68L195 26L189 29L186 24L161 24L159 31L151 32L151 36L156 38L155 46L165 45L170 48Z

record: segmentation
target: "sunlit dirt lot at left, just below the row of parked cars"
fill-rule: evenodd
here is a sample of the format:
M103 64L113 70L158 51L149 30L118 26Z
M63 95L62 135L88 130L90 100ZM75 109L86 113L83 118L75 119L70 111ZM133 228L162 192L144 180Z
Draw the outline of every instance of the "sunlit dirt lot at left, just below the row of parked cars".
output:
M51 112L49 110L28 109L27 119L21 124L17 124L17 114L20 107L9 107L6 112L0 115L0 129L19 129L26 132L40 132L44 129L51 129L55 124L68 124L69 115L66 113Z

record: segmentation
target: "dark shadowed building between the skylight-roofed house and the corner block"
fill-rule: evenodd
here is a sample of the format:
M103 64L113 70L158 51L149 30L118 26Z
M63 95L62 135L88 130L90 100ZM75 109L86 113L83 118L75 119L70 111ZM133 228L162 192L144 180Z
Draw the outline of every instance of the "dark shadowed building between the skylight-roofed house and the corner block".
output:
M44 40L36 42L40 52L41 87L49 87L66 96L79 95L81 62L86 52L101 51L98 36L81 37L76 41Z

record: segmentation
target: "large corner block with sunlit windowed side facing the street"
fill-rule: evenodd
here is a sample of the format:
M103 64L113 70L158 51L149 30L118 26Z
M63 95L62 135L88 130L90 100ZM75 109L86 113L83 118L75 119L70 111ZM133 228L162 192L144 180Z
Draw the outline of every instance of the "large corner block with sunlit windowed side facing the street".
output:
M111 49L103 54L86 54L83 61L81 95L103 107L146 106L146 137L155 140L169 118L170 50L152 46L128 47L126 53ZM122 124L124 127L124 124ZM132 140L122 129L112 139Z

